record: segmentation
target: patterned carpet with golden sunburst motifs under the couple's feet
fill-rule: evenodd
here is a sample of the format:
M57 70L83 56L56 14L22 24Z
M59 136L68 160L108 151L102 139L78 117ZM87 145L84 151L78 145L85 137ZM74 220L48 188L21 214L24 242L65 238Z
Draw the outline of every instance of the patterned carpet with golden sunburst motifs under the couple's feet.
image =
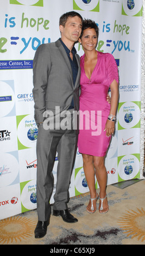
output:
M55 249L60 245L145 245L145 180L123 189L109 185L107 194L107 214L99 214L99 201L94 214L86 212L89 193L71 198L68 206L78 223L52 215L42 239L34 238L36 210L1 220L0 245L51 245Z

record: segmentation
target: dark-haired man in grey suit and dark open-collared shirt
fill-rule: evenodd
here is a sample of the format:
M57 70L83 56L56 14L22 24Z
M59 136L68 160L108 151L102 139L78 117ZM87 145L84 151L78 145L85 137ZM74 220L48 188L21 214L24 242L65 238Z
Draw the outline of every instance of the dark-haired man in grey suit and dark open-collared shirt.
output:
M78 127L73 127L72 112L79 111L80 58L74 48L78 41L82 17L71 11L60 17L61 39L37 48L33 62L33 96L37 137L37 214L35 238L46 235L51 216L51 199L54 178L52 174L56 152L58 169L54 195L53 215L65 222L77 222L67 208L69 185L77 151ZM60 117L56 114L59 107ZM70 111L71 129L61 122L64 111ZM52 113L50 126L47 114ZM48 122L49 119L49 122ZM58 121L59 120L59 121ZM48 124L49 123L49 124ZM53 127L54 129L49 129ZM70 126L69 126L70 127ZM75 125L76 128L76 125Z

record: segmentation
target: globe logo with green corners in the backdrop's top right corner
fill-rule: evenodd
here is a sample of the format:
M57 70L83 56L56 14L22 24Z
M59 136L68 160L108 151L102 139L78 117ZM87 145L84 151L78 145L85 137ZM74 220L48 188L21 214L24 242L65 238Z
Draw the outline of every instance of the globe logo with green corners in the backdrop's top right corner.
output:
M122 2L122 15L142 16L142 0L124 0Z

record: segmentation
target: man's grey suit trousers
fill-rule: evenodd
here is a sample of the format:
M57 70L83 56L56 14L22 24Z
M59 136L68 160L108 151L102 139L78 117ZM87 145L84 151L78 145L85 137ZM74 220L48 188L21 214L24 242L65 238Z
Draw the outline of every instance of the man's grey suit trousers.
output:
M78 134L75 130L45 130L39 125L37 137L37 214L39 221L47 221L51 216L51 199L54 177L53 166L58 152L58 169L54 210L67 209L69 185L77 152Z

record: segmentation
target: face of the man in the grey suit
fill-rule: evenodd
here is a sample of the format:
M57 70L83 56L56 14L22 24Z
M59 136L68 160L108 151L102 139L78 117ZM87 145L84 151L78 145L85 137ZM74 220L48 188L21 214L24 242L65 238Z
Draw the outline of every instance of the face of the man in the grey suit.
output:
M60 25L61 39L64 42L76 42L81 33L82 23L78 16L68 17L65 27Z

